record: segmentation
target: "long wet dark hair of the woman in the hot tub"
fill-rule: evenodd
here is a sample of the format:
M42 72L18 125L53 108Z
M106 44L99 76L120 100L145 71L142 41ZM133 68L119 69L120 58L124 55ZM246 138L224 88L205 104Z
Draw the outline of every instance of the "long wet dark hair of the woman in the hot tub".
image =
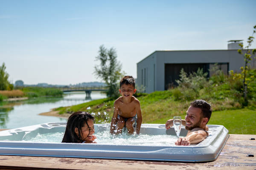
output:
M75 112L67 120L67 127L62 139L64 143L81 143L81 128L84 126L84 123L87 124L87 120L93 119L94 117L88 112ZM75 128L78 128L78 135L75 133ZM89 127L89 126L88 126ZM90 132L89 132L90 134Z

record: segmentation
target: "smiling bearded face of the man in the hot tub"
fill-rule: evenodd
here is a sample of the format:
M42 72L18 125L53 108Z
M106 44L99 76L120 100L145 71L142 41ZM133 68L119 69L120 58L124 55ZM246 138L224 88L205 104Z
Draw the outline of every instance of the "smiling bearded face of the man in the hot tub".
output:
M195 127L201 127L202 122L202 110L201 108L195 108L189 106L189 109L186 112L185 120L186 120L186 130L192 130Z

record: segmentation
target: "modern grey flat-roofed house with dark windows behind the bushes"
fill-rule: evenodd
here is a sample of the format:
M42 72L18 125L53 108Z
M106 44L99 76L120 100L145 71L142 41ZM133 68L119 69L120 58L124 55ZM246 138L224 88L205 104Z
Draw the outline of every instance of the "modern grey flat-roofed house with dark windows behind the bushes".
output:
M241 40L231 40L227 50L154 51L137 63L136 84L138 87L143 85L145 93L164 91L177 85L175 80L179 79L182 68L188 74L203 68L211 76L209 69L215 63L218 63L224 74L228 74L230 70L240 72L240 67L244 66L244 58L237 52L241 43L239 41ZM252 58L250 65L256 68L256 59Z

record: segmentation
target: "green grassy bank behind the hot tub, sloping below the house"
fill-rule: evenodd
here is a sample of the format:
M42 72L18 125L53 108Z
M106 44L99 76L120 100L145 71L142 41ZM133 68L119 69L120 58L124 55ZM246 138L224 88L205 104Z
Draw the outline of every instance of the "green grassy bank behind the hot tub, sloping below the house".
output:
M143 123L165 124L173 116L185 118L186 111L191 101L176 101L171 91L156 91L151 94L137 97L143 116ZM76 111L88 111L95 113L95 123L111 122L113 116L113 99L99 99L90 102L61 107L59 113L73 113ZM225 102L228 101L228 102ZM208 101L212 104L213 112L209 124L224 125L229 133L256 134L256 111L248 108L236 107L235 102L225 99ZM229 102L231 101L231 102ZM233 104L232 104L233 103ZM90 109L87 109L90 107ZM107 114L105 114L105 113Z

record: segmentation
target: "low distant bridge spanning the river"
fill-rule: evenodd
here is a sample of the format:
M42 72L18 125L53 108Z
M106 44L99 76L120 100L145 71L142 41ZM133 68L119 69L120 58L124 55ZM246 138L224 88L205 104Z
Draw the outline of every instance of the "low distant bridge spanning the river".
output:
M73 92L73 91L84 91L86 94L86 99L90 99L90 94L92 91L108 91L107 87L83 87L83 88L60 88L63 92Z

